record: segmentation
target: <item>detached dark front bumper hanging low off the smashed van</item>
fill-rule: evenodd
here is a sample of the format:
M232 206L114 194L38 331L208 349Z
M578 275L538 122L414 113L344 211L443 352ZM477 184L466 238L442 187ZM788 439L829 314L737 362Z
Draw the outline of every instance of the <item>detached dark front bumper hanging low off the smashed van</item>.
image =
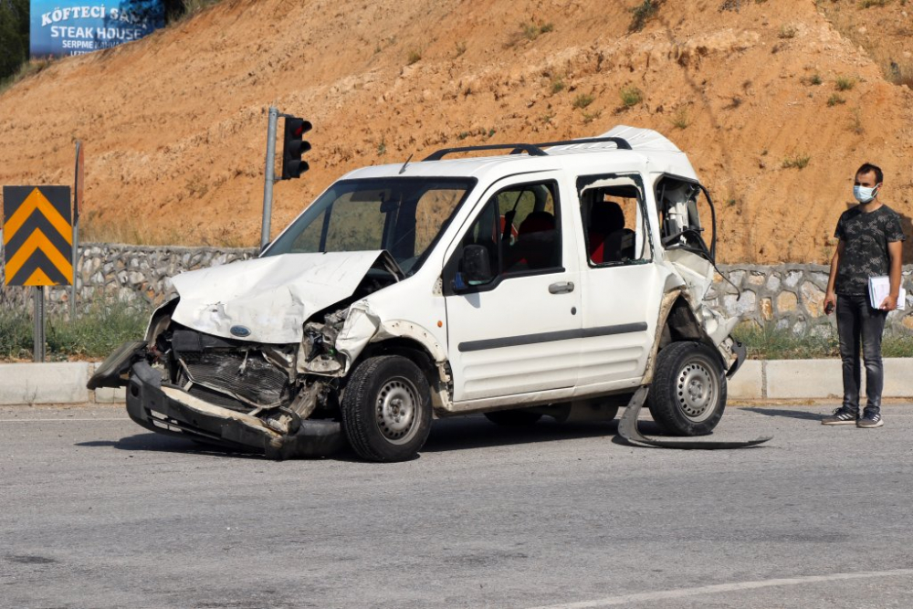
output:
M263 451L266 457L326 457L343 445L335 421L303 420L295 434L283 435L257 417L205 403L174 386L147 362L133 364L127 385L127 414L156 433L189 437L235 450Z

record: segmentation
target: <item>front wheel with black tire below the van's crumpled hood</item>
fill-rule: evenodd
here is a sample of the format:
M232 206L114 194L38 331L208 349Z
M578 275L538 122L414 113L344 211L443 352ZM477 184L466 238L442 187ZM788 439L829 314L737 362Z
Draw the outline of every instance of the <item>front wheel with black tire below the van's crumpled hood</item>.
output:
M342 395L342 429L368 461L415 457L431 431L431 392L425 374L399 355L360 363Z

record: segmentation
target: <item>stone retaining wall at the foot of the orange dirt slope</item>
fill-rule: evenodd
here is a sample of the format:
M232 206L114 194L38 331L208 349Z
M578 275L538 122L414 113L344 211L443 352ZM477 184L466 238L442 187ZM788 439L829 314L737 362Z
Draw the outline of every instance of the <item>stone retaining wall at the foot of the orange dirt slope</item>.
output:
M87 244L79 248L79 309L86 310L99 299L120 299L149 307L173 294L169 278L180 272L255 256L255 248ZM721 265L719 270L734 286L718 275L707 300L727 315L738 314L759 325L774 323L796 332L834 325L834 316L824 315L828 268L823 265ZM913 294L913 267L904 269L904 285ZM66 313L69 295L68 287L46 289L47 310ZM0 292L2 306L23 307L30 306L30 302L31 289L4 288ZM908 310L895 311L890 319L913 329L911 310L913 295L908 296Z

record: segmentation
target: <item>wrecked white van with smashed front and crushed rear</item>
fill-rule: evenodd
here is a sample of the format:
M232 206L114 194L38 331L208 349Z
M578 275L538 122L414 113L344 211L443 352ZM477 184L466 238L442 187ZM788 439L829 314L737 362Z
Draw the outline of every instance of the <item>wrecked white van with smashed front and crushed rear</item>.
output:
M714 225L655 131L366 167L256 259L173 278L89 387L126 385L156 432L273 458L399 461L436 417L607 420L642 388L667 434L707 435L745 359L702 302Z

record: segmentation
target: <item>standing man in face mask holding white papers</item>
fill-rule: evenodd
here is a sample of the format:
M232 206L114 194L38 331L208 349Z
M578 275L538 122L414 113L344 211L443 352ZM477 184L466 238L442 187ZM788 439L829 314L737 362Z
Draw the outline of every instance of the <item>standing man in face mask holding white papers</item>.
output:
M840 239L831 260L824 310L837 310L840 359L844 367L844 403L824 425L880 427L881 390L885 384L881 335L887 312L897 309L904 233L900 216L878 200L884 175L866 163L855 174L853 195L859 205L847 209L837 222ZM881 302L869 302L868 278L887 275L891 290ZM859 340L866 361L866 409L859 417Z

